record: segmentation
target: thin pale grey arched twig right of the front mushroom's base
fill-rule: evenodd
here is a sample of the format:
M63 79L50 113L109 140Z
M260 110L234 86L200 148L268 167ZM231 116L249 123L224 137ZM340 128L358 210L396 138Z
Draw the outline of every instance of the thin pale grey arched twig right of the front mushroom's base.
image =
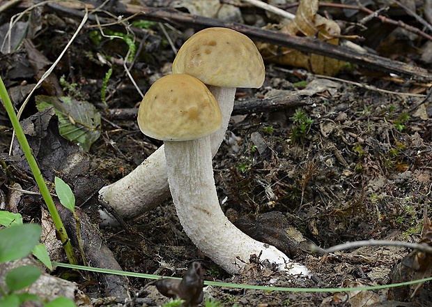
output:
M404 247L404 248L412 248L416 250L421 250L424 253L428 253L432 255L432 247L427 244L418 244L418 243L409 243L404 241L390 241L390 240L364 240L364 241L354 241L347 242L344 244L339 244L337 246L333 246L331 248L323 249L311 244L310 248L315 253L330 254L337 252L339 250L347 250L350 248L359 248L363 246L396 246L396 247Z

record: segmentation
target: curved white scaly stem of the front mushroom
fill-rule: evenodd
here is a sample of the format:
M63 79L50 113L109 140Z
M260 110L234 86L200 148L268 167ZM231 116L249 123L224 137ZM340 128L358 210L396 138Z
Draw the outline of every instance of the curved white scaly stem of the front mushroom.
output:
M178 218L199 250L230 274L244 267L251 255L262 252L260 260L276 263L288 274L309 276L306 267L293 262L274 246L247 236L226 218L213 179L210 137L165 142L165 156Z

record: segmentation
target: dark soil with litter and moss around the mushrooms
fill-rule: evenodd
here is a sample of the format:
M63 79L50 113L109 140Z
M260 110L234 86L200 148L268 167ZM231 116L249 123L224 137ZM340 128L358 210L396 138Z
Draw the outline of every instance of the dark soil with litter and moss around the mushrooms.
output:
M54 61L79 20L49 10L41 16L43 29L32 39L33 44L44 57ZM169 28L176 47L188 33L187 29L180 29ZM143 93L159 77L170 73L175 56L158 24L152 24L148 33L151 38L134 59L131 70ZM93 29L81 31L54 75L64 75L69 84L62 84L63 96L88 100L100 110L100 137L84 152L77 144L60 141L56 125L45 127L49 138L29 135L45 178L53 181L54 175L63 177L72 186L77 205L94 225L100 222L98 189L121 179L161 145L142 135L134 119L105 115L100 93L109 66L113 69L107 82L109 109L136 107L141 97L122 65L121 56L128 46L123 40L108 38L101 38L96 44L92 40L96 34ZM6 72L2 77L10 91L35 84L36 72L29 63L29 52L34 51L19 48L15 53L1 55L1 71ZM403 59L408 61L409 56ZM323 256L312 253L310 247L313 244L328 248L369 239L423 239L431 243L431 226L424 218L424 212L427 216L431 211L432 186L432 105L430 99L425 101L428 85L415 85L408 80L398 83L401 78L368 75L357 68L340 73L338 77L343 80L329 80L304 70L265 64L263 87L238 89L237 102L302 94L309 96L309 103L233 116L226 140L213 161L217 192L223 211L233 223L252 237L291 255L306 265L314 277L293 280L280 272L257 269L257 264L251 264L242 274L229 276L194 247L176 218L171 200L140 218L126 220L126 228L100 227L100 234L120 267L125 271L182 277L193 261L199 261L205 280L309 288L387 285L430 277L429 256L422 258L408 248L364 246ZM414 65L431 68L421 61ZM14 74L15 70L20 73ZM35 96L49 95L48 87L45 84ZM17 107L20 103L19 97ZM24 119L41 116L34 105L32 99ZM51 127L52 117L51 114L46 120L47 127ZM0 124L3 158L11 133L2 108ZM63 155L53 150L53 143L61 144ZM16 147L15 144L14 154L18 156ZM81 160L66 172L65 161L72 154ZM1 172L2 195L10 194L12 183L19 183L24 190L36 189L25 161L3 159L10 172ZM39 222L40 204L40 197L24 194L14 209L26 221ZM300 233L300 239L294 240L293 233ZM98 276L93 278L98 280ZM97 283L91 285L82 278L77 282L94 299L95 306L126 306L116 299L102 303L106 294ZM141 301L137 300L134 306L157 306L169 301L153 286L142 290L148 282L129 278L130 292L141 290ZM431 282L424 283L411 298L414 288L415 285L362 292L263 292L208 286L204 292L224 306L430 306Z

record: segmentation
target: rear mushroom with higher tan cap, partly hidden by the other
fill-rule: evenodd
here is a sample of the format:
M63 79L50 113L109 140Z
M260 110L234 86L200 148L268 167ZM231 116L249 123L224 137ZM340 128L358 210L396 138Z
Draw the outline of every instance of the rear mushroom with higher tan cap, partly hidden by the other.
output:
M261 87L265 69L261 54L247 36L226 28L195 33L180 48L173 73L192 75L208 85L222 111L222 125L210 135L212 156L224 140L236 87ZM142 186L146 188L143 190ZM169 197L164 146L114 184L99 191L100 200L122 218L134 218Z

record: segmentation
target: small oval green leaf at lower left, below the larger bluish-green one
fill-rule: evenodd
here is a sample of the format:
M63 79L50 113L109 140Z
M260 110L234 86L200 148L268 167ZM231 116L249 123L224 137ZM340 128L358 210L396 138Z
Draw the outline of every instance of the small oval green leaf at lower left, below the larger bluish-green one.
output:
M9 292L15 292L29 287L29 285L38 280L40 274L42 274L40 269L33 265L24 265L11 269L8 271L5 278Z

